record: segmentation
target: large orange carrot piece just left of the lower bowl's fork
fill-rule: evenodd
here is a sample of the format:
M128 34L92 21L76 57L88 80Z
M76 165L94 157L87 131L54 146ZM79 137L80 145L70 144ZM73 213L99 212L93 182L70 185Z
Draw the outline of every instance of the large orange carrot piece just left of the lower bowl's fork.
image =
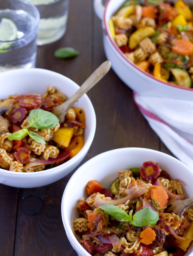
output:
M162 209L167 208L167 204L168 204L167 199L169 197L165 189L163 189L163 187L154 186L154 188L151 189L151 198L152 200L155 200Z

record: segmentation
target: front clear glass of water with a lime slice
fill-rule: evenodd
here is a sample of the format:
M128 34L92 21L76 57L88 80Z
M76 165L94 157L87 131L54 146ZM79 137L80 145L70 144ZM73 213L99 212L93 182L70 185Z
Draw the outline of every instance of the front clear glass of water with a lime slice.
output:
M39 19L27 0L0 0L0 72L35 67Z

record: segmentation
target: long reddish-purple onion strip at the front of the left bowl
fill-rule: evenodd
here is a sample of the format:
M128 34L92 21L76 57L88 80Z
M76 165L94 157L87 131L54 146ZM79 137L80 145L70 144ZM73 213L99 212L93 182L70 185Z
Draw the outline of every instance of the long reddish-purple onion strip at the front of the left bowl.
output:
M29 169L32 166L38 166L42 164L53 164L53 163L59 163L60 161L66 159L70 155L70 152L65 151L58 155L56 158L48 158L48 160L45 159L39 159L35 160L25 166L25 169Z

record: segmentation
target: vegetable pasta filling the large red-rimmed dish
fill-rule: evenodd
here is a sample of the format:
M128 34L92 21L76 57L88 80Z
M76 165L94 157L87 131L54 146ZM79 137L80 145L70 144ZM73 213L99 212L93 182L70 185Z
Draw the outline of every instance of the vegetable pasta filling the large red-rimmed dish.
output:
M157 79L192 88L192 6L177 0L126 1L110 18L125 56Z

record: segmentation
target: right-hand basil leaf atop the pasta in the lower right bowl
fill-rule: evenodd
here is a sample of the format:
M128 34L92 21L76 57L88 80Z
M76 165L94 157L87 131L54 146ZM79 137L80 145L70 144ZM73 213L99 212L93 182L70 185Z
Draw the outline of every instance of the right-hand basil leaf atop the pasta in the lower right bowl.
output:
M131 220L129 223L136 227L143 227L146 225L155 225L158 219L158 212L155 212L152 209L145 207L144 209L136 212L133 215L133 220Z

